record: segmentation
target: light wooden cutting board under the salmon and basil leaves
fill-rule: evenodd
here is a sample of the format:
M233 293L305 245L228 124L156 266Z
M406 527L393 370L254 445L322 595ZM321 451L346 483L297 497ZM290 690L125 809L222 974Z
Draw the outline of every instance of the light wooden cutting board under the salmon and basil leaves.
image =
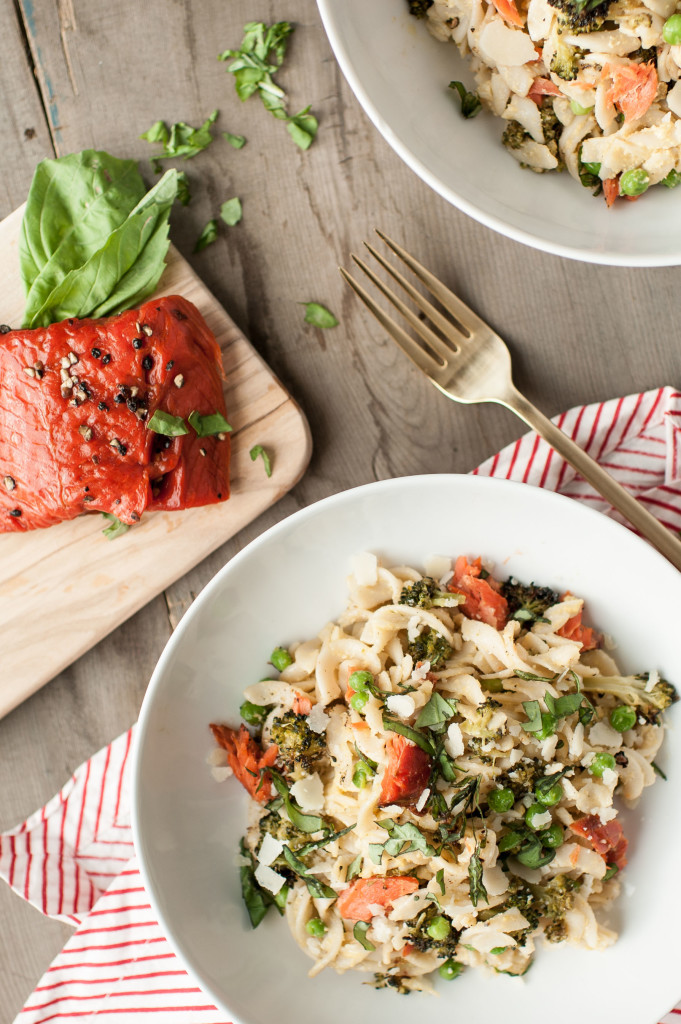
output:
M22 207L0 222L0 324L12 327L24 311L23 214ZM102 536L107 523L97 514L0 534L0 717L282 498L309 461L303 413L172 246L157 294L194 302L222 349L233 427L231 497L206 508L145 514L115 541ZM254 444L270 454L271 477L262 459L251 460Z

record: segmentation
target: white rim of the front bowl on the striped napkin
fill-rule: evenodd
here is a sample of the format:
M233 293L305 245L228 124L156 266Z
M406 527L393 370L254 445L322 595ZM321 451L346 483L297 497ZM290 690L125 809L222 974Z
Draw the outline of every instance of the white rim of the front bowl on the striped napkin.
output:
M305 519L312 518L320 514L324 514L325 510L334 505L342 505L346 501L354 501L361 497L361 495L368 490L391 490L402 486L414 486L418 485L420 481L428 480L431 485L437 484L438 482L452 482L453 480L458 481L458 483L464 487L484 487L490 489L501 489L501 488L512 488L515 492L529 492L531 490L540 503L546 503L547 506L558 504L562 507L567 507L567 505L572 506L572 511L578 515L578 517L584 517L588 521L599 521L602 523L606 520L608 525L607 529L611 529L613 535L616 537L627 537L630 542L636 545L644 545L647 549L647 557L652 557L657 561L658 565L664 569L667 566L667 570L670 572L676 572L674 566L668 559L665 558L658 551L656 551L651 545L649 545L644 539L642 539L633 530L629 529L627 526L618 522L616 519L612 519L605 515L598 509L592 508L585 503L576 500L567 495L561 495L555 490L549 490L544 487L533 486L528 483L522 483L516 480L507 480L499 477L490 476L478 476L473 473L426 473L426 474L411 474L409 476L400 477L390 477L382 480L374 480L369 483L358 484L354 487L348 487L342 490L335 492L334 494L328 495L325 498L320 499L316 502L312 502L310 505L306 505L302 509L298 509L291 515L285 516L279 522L274 523L268 529L259 534L257 537L253 538L245 547L238 551L231 558L229 558L224 565L222 565L217 572L212 577L212 579L206 584L204 589L197 596L196 600L191 603L189 608L182 616L180 623L168 638L168 641L161 652L159 660L154 669L152 677L150 679L146 691L144 693L142 705L139 711L139 717L134 733L134 741L131 751L131 800L130 800L130 817L132 835L134 841L134 850L137 858L139 873L144 886L144 890L148 897L152 910L156 915L156 920L168 941L170 948L177 956L178 962L182 968L186 971L189 978L194 979L196 983L200 986L202 992L208 995L212 1000L214 1000L215 1006L223 1013L230 1015L230 1019L233 1024L246 1024L243 1018L240 1018L235 1011L224 1002L222 996L213 991L210 982L204 978L201 968L199 965L191 963L189 955L184 951L183 944L180 938L176 935L176 929L171 926L169 921L166 919L165 912L161 906L161 896L158 894L157 898L157 888L153 882L152 872L147 870L145 862L145 844L143 841L143 825L141 823L141 752L144 745L144 737L151 728L151 718L155 710L155 698L157 696L157 691L162 686L163 675L165 672L166 664L173 656L175 648L181 643L184 633L189 629L189 623L193 617L201 611L201 609L212 600L213 594L219 589L222 584L222 580L226 574L233 570L235 567L239 566L243 561L250 557L250 553L253 549L259 547L261 544L267 543L270 540L276 540L280 535L285 535L287 530L295 527L300 522L304 522ZM657 1015L662 1019L662 1015ZM652 1019L652 1018L651 1018ZM657 1019L657 1018L655 1018Z

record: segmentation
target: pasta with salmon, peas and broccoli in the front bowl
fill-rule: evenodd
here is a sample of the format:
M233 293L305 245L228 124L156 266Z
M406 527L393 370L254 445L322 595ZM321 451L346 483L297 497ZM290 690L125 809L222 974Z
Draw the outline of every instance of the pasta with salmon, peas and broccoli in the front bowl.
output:
M655 780L676 699L654 667L620 673L580 597L480 558L425 570L356 556L346 609L274 649L209 759L252 798L253 927L274 907L310 975L399 992L522 975L540 941L615 941L599 920L627 864L614 798Z

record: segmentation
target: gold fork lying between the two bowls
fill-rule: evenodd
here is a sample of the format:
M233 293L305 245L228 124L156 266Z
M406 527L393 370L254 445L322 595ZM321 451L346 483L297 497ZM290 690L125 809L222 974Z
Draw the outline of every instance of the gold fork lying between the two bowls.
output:
M378 229L377 234L413 271L455 321L453 323L436 309L399 270L395 269L369 243L365 243L365 245L372 256L397 282L430 324L421 319L398 295L374 273L364 260L354 254L352 259L395 309L401 313L408 325L419 336L421 342L408 334L381 306L377 305L369 292L350 276L347 270L343 267L340 268L348 285L354 289L390 337L397 342L419 370L442 394L455 401L467 404L495 401L510 409L548 441L558 455L569 463L610 505L618 509L643 537L647 538L657 551L665 555L678 569L681 569L681 542L628 490L625 490L609 473L606 473L591 456L587 455L579 444L576 444L524 395L520 394L513 384L511 376L510 352L499 335L401 246L392 242Z

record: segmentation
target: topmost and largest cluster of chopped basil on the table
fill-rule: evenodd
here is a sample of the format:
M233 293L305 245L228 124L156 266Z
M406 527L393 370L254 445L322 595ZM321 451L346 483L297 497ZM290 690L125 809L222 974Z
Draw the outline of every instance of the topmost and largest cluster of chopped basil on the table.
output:
M262 22L249 22L244 26L244 38L239 49L225 50L219 59L232 60L227 71L235 76L239 98L246 100L257 92L265 110L279 121L286 121L289 134L296 145L307 150L316 135L316 118L310 114L309 106L289 117L287 95L272 78L284 62L292 32L293 26L289 22L278 22L271 26Z

